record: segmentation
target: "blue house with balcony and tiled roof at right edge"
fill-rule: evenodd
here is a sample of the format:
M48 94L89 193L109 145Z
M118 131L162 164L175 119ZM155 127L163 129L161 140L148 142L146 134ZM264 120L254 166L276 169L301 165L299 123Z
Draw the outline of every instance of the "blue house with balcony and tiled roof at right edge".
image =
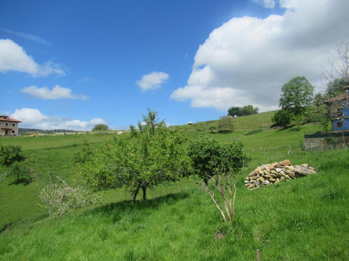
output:
M332 131L349 130L349 93L343 93L327 101L330 107Z

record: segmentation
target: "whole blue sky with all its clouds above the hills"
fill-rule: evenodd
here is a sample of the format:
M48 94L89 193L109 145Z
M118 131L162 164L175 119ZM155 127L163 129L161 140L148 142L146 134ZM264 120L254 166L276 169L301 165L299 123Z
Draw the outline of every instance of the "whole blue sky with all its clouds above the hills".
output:
M292 77L319 83L347 13L342 0L2 2L0 112L90 129L147 107L169 124L273 110Z

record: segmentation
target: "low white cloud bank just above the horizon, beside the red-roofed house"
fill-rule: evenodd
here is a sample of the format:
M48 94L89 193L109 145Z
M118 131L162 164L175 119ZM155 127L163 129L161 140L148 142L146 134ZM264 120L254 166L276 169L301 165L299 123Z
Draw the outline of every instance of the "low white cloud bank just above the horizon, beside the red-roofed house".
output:
M102 118L94 118L90 121L71 120L57 116L46 116L37 109L23 108L15 110L11 118L23 121L21 128L33 129L72 129L91 130L95 124L106 124Z

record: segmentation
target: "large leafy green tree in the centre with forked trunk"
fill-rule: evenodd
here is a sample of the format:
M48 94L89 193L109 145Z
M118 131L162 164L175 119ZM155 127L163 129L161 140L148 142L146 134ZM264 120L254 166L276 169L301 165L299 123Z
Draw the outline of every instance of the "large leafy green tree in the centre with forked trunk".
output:
M146 199L148 188L179 180L188 171L190 158L182 147L186 137L166 128L157 112L148 109L139 130L130 127L129 134L107 140L89 161L77 163L75 171L94 190L124 186L135 201L140 189Z

